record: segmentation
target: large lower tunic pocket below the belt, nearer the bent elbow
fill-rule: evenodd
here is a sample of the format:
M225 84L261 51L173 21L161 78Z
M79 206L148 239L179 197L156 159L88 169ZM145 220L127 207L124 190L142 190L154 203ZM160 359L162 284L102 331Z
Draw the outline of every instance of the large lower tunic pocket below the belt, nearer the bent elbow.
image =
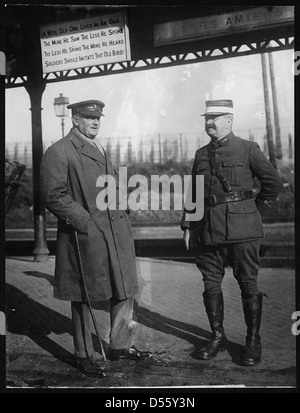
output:
M253 199L227 204L227 240L263 237L263 225Z

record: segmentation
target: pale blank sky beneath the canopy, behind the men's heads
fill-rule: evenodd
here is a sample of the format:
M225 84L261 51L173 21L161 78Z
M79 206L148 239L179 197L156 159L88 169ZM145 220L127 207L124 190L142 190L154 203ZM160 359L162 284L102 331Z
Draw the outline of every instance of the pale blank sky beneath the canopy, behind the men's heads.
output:
M293 51L273 52L273 60L280 124L293 131ZM42 100L45 142L61 138L61 121L53 106L60 93L70 103L105 103L100 138L202 133L200 115L208 98L233 99L235 130L265 127L260 55L47 84ZM272 103L271 94L270 99ZM65 132L70 126L69 117ZM6 90L6 143L14 142L31 142L30 101L23 87Z

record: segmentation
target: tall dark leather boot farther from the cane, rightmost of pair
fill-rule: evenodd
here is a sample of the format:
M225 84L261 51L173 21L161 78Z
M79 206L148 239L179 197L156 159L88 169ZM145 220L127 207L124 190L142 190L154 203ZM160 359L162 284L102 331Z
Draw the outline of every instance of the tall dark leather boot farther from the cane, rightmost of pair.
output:
M246 347L242 356L244 366L254 366L261 361L260 322L262 315L263 294L243 295L243 310L247 325Z

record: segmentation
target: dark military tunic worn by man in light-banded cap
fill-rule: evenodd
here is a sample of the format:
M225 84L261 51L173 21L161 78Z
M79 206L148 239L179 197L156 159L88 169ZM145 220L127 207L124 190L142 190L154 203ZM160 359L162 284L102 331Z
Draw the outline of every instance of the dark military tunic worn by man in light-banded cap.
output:
M270 210L283 189L280 176L256 142L241 139L230 132L218 142L216 162L232 191L253 191L253 198L212 206L208 202L209 196L226 192L211 167L209 145L211 143L196 151L192 167L192 177L204 176L204 215L200 221L192 222L187 221L184 211L181 229L194 230L196 240L205 245L262 238L261 216Z

